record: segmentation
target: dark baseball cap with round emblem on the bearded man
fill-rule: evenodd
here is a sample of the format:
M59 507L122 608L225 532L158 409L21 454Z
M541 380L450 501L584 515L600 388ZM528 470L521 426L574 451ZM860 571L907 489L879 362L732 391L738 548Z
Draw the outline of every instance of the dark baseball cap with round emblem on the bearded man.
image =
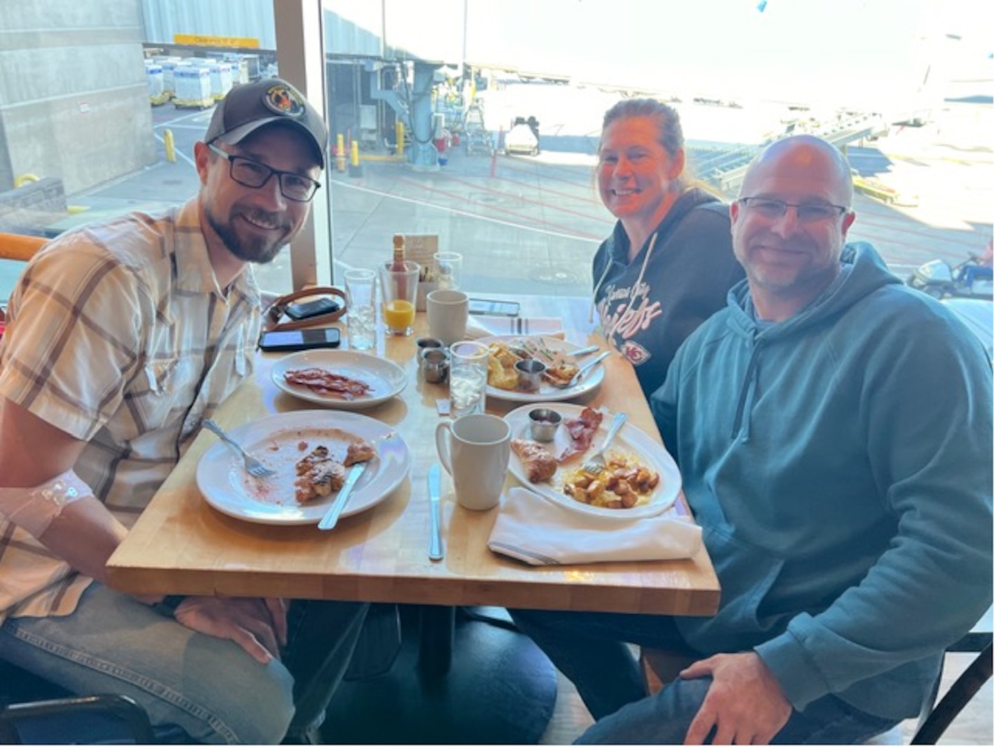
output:
M236 86L221 99L211 116L204 142L235 145L267 124L290 124L310 137L318 163L324 168L328 130L321 115L287 81L266 78Z

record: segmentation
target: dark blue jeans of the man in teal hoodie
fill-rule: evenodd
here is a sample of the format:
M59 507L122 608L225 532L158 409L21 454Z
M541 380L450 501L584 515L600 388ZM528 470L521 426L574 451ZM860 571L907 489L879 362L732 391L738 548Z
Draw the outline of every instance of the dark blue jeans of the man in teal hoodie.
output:
M639 661L626 645L695 655L669 617L510 610L518 628L572 681L597 722L578 744L683 744L711 683L677 678L648 696ZM697 654L703 658L703 655ZM859 744L897 721L826 695L794 711L774 744Z

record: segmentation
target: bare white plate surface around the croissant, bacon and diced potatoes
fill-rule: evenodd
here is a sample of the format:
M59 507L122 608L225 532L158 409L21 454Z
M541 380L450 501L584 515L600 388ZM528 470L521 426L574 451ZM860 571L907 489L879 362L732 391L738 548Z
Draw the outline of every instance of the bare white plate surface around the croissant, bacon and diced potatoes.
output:
M542 444L554 457L558 457L570 444L570 434L565 427L566 421L579 416L584 408L578 405L550 402L538 405L526 405L525 407L512 410L504 416L504 420L511 428L512 439L533 440L529 433L528 413L537 407L555 410L563 417L563 423L556 429L556 440L552 443ZM604 413L602 414L604 415ZM611 420L610 415L604 415L601 420L601 426L598 428L598 432L591 443L591 448L584 454L571 460L568 463L568 469L580 467L589 455L594 454L600 448L601 443L608 433ZM653 489L653 492L650 493L646 502L634 505L632 508L602 508L601 506L588 505L587 503L581 503L579 500L574 500L562 490L557 489L553 483L529 482L521 460L518 459L518 456L513 451L511 452L511 461L508 468L511 474L522 485L533 492L562 506L566 506L571 510L592 516L604 516L612 519L642 518L644 516L655 516L658 513L663 513L674 504L674 501L677 500L678 495L681 493L681 470L678 469L677 463L674 462L674 459L659 442L651 439L644 431L627 422L622 426L622 430L618 432L615 441L612 442L612 446L608 449L609 455L616 451L623 454L630 454L642 464L660 473L660 482ZM553 480L556 480L557 475L563 472L564 468L560 467L556 475L553 475Z

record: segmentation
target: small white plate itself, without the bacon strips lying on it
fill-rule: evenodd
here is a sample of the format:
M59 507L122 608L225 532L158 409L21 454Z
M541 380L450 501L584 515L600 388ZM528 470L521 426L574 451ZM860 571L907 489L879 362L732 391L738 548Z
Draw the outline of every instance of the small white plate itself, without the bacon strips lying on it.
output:
M354 400L343 400L327 394L319 394L307 387L290 384L284 374L295 368L317 366L332 373L348 376L370 386L369 394ZM396 363L382 358L374 358L366 353L355 353L348 350L301 350L284 356L273 364L273 383L298 399L324 405L338 410L360 410L373 407L404 391L408 385L408 377L404 369Z

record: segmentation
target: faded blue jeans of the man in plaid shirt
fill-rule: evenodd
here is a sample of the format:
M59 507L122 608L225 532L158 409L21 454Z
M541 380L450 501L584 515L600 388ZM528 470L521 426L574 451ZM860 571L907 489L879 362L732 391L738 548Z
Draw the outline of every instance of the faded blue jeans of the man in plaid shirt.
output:
M279 744L320 722L366 609L293 602L282 660L261 664L94 583L72 615L8 619L0 657L76 693L129 695L153 726L175 724L198 742Z

